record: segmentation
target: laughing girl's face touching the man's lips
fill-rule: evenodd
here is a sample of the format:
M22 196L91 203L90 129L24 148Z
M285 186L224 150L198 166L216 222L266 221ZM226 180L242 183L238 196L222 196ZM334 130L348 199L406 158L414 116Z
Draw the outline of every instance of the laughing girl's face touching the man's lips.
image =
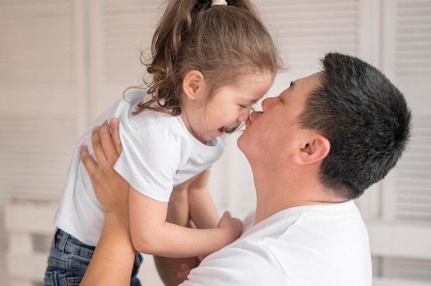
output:
M196 108L189 109L187 128L206 143L222 135L226 127L249 120L252 105L268 92L273 80L272 74L250 75L235 85L216 89L209 101L202 99Z

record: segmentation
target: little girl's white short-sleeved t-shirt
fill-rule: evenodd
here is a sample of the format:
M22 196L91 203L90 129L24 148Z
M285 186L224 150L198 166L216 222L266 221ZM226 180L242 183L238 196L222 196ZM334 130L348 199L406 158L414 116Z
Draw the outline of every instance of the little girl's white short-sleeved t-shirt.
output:
M156 111L132 115L145 96L144 91L129 92L127 100L120 100L105 111L76 146L54 223L83 243L96 245L103 228L103 208L79 157L82 145L87 145L93 154L94 126L112 117L119 118L123 152L114 168L136 190L158 201L169 201L174 186L211 168L222 155L226 134L202 144L187 131L179 115Z

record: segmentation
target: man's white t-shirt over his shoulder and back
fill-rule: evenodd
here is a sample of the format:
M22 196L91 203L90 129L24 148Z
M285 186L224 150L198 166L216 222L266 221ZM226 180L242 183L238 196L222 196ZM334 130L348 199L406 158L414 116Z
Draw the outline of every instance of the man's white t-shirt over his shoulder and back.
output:
M299 206L253 225L207 256L182 286L368 286L368 232L353 201Z

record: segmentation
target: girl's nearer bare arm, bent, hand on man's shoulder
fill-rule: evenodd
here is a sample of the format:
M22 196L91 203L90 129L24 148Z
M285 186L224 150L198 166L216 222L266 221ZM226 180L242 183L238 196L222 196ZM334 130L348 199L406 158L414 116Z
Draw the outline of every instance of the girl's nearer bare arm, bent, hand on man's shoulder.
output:
M242 232L240 219L225 213L217 228L194 229L169 223L168 203L129 190L130 233L135 250L167 257L209 254L235 241Z

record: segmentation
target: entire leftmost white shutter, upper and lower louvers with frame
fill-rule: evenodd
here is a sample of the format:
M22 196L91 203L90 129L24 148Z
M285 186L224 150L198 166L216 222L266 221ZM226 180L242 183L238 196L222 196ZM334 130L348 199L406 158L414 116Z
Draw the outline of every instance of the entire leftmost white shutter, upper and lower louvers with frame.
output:
M83 0L0 1L0 285L12 285L4 207L58 201L87 124L83 11Z

